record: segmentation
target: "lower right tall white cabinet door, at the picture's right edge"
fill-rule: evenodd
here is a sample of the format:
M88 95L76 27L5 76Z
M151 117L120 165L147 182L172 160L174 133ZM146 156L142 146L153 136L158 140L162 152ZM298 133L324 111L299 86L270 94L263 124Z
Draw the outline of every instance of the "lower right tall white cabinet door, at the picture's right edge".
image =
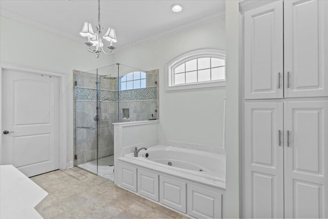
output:
M328 218L328 101L284 103L286 218Z

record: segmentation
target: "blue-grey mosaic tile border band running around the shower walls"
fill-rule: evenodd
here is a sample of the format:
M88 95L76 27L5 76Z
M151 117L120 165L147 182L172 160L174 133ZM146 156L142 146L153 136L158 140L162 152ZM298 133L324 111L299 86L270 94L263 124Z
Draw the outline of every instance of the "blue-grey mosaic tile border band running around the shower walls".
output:
M151 101L157 99L157 87L139 88L133 90L110 91L100 90L100 99L105 102L119 101ZM75 87L76 101L97 101L97 90L93 88Z

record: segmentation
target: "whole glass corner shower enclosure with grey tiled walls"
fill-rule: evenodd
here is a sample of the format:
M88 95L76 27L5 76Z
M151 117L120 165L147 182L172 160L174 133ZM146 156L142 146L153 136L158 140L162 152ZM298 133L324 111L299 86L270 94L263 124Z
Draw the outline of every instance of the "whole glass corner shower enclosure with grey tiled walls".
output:
M113 123L157 119L158 71L113 64L73 77L74 166L113 181Z

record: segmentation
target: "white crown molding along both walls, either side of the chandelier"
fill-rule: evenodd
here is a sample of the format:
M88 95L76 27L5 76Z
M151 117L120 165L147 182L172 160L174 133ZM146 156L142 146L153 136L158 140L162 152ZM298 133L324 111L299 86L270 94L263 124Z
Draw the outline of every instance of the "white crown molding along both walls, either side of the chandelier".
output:
M39 28L39 29L42 29L42 30L46 30L46 31L51 32L51 33L58 34L60 36L64 36L66 38L72 39L72 40L77 41L79 43L84 43L85 42L85 40L83 38L80 38L78 36L69 34L67 32L60 31L58 29L49 27L47 25L41 24L41 23L36 22L36 21L34 21L32 19L29 19L27 17L18 15L16 13L13 13L13 12L10 12L10 11L7 11L3 8L0 8L0 15L4 16L4 17L8 17L8 18L13 19L13 20L18 21L18 22L22 22L24 24L31 25L33 27L36 27L36 28ZM187 29L190 29L190 28L193 28L193 27L197 27L197 26L200 26L202 24L210 23L210 22L215 21L216 19L220 19L224 16L226 16L225 11L223 11L221 13L216 13L216 14L212 14L212 15L209 15L209 16L205 16L205 17L202 17L200 19L195 19L195 20L193 20L189 23L186 23L186 24L180 25L178 27L172 28L169 31L165 31L165 32L162 32L162 33L159 33L159 34L155 34L153 36L141 39L140 41L135 41L135 42L130 43L130 44L122 45L122 46L116 48L115 52L120 52L120 51L126 50L128 48L138 46L140 44L145 44L147 42L154 41L156 39L171 35L173 33L177 33L177 32L183 31L183 30L187 30Z

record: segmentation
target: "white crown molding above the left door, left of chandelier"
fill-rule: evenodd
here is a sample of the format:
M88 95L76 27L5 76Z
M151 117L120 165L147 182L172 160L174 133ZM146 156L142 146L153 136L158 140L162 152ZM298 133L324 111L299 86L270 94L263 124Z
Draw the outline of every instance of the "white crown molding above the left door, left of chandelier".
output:
M42 30L46 30L46 31L51 32L51 33L58 34L60 36L64 36L64 37L69 38L69 39L73 39L74 41L77 41L77 42L82 42L82 43L85 42L83 38L80 38L78 36L74 36L72 34L64 32L64 31L49 27L47 25L41 24L41 23L39 23L37 21L34 21L32 19L29 19L27 17L15 14L11 11L7 11L3 8L0 8L0 15L4 16L4 17L8 17L8 18L13 19L13 20L18 21L18 22L22 22L24 24L31 25L33 27L36 27L36 28L39 28L39 29L42 29Z

